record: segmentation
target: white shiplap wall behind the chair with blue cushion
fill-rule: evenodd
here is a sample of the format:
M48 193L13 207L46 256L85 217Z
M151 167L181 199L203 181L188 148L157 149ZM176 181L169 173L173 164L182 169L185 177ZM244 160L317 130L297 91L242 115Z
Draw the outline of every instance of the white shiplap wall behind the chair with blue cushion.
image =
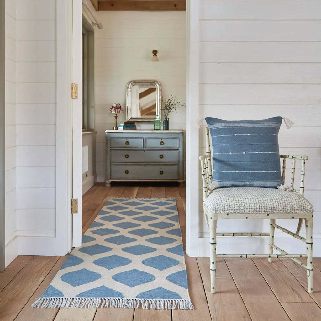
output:
M315 207L314 237L319 237L321 2L200 0L199 3L200 117L237 120L285 116L295 122L289 130L282 125L280 152L309 156L305 195ZM200 154L204 154L204 128L200 130ZM199 195L202 204L201 190ZM206 237L202 208L199 214L200 237ZM295 230L293 223L288 221L284 225ZM268 222L218 223L218 232L255 230L268 231ZM276 236L280 236L278 232L282 233L277 231ZM220 246L218 241L219 252L224 249L224 253L235 253L235 246L231 246L236 244L235 239L221 242ZM263 243L254 242L254 247L251 246L253 239L239 242L244 246L243 252L266 252ZM285 250L297 251L296 245L300 244L293 242ZM321 248L314 248L314 254L321 256ZM205 254L208 252L201 249L200 255Z

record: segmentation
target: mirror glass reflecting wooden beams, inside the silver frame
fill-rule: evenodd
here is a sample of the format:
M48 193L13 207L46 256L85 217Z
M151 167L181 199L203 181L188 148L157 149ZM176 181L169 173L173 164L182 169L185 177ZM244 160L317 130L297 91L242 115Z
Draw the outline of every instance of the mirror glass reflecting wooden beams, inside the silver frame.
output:
M134 85L132 87L132 117L156 116L156 87Z

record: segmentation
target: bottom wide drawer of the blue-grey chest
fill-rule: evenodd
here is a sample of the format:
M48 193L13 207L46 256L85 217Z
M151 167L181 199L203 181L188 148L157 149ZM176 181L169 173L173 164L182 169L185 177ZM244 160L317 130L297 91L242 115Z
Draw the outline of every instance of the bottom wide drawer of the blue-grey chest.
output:
M177 165L110 164L111 179L178 179Z

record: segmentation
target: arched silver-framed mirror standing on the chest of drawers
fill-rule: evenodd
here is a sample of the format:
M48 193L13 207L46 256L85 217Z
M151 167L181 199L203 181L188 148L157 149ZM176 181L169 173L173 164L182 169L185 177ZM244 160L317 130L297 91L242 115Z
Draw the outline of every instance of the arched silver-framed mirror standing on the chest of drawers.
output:
M161 118L161 86L157 80L132 80L126 88L127 120L153 122Z

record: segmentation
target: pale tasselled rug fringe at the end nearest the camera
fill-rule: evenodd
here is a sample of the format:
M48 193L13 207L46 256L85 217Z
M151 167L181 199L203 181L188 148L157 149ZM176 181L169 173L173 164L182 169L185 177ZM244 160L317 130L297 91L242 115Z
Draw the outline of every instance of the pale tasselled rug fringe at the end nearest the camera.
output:
M189 299L124 299L124 298L39 298L32 308L138 308L153 310L193 310Z

